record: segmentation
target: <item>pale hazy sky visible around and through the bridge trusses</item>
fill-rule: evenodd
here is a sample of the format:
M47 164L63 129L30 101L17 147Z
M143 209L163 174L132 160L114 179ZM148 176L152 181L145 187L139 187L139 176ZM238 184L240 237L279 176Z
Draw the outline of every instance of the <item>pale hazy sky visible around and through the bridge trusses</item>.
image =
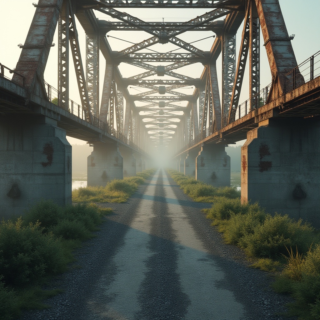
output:
M36 0L34 0L36 1ZM308 57L313 55L315 52L320 50L320 26L319 26L319 12L320 12L320 0L279 0L280 6L284 15L284 20L288 29L289 35L295 34L295 38L292 40L292 46L296 55L298 64ZM132 15L139 16L142 20L146 21L187 21L194 18L197 15L203 14L209 11L204 9L176 9L176 10L165 10L165 9L126 9ZM9 68L14 68L19 59L21 49L18 44L24 44L25 38L28 33L28 28L30 26L33 14L35 12L35 7L32 5L32 1L26 0L0 0L0 62ZM108 16L97 12L97 17L109 19ZM240 43L240 37L243 26L240 27L238 32L237 47ZM77 29L79 33L79 41L82 46L82 59L85 59L85 35L79 24L77 24ZM206 36L213 35L212 32L202 32L200 33L187 33L180 35L179 37L188 42L200 39ZM150 35L143 32L136 32L133 36L133 32L109 32L108 35L121 37L127 41L139 42L141 40L147 39ZM118 41L115 39L108 38L110 40L113 50L121 50L130 44L123 41ZM202 50L210 50L212 41L214 39L210 38L195 45ZM54 37L53 42L58 43L57 32ZM265 49L262 46L263 40L261 40L261 87L269 84L271 82L270 71L268 66L268 60L265 53ZM162 47L164 46L164 47ZM159 52L167 52L171 50L171 44L161 45L158 44L151 49L157 50ZM172 49L175 49L172 47ZM57 45L51 49L48 64L45 70L45 80L52 84L52 86L57 88L57 59L58 59L58 47ZM237 53L238 55L238 53ZM100 84L103 83L104 76L104 63L100 56ZM200 65L200 64L199 64ZM185 74L190 76L199 77L203 67L200 65L194 65L192 68L187 69ZM218 61L219 68L219 61ZM142 69L135 67L128 67L128 65L120 65L119 69L124 77L132 76L133 74L138 74L142 72ZM182 70L182 69L181 69ZM178 69L178 72L179 69ZM247 84L246 84L247 85ZM130 89L132 94L139 93L135 91L136 89ZM133 90L133 91L132 91ZM191 89L190 89L191 90ZM193 90L192 90L193 91ZM245 90L244 90L245 91ZM102 92L102 90L100 90ZM183 92L183 91L181 91ZM184 91L184 93L187 93ZM188 92L189 93L189 92ZM246 92L240 97L240 102L243 102L248 97ZM70 99L75 101L80 101L79 94L76 86L76 80L74 76L74 71L70 71ZM68 139L69 140L69 139ZM76 139L70 138L70 143L75 143ZM80 142L79 140L77 141ZM85 142L82 142L85 143Z

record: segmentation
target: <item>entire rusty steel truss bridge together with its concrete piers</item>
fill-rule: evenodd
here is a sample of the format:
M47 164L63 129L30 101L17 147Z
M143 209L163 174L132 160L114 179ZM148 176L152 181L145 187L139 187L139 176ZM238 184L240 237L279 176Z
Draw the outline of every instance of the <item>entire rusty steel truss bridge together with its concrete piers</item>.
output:
M162 164L173 159L172 165L196 179L228 186L225 146L247 139L241 155L242 200L319 226L320 52L297 64L294 35L288 34L278 0L39 0L34 6L16 68L1 65L0 72L0 200L6 215L40 197L70 203L66 135L93 145L89 185L105 185L124 171L133 175L156 157ZM121 11L137 7L203 12L183 22L150 22ZM134 42L118 36L128 31ZM149 38L140 39L137 31ZM189 42L181 37L198 31L211 36L191 36ZM44 81L55 33L58 89ZM207 47L199 49L196 43L207 38ZM114 41L131 44L121 48ZM272 77L262 89L261 50L266 50ZM80 104L69 98L72 65ZM243 87L249 98L240 104Z

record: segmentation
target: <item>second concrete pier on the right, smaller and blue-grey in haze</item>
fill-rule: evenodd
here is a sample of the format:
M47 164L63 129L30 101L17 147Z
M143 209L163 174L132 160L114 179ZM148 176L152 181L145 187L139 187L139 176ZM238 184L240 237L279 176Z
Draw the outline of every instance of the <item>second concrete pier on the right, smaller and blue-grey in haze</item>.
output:
M204 145L196 157L196 180L230 187L230 157L224 144Z

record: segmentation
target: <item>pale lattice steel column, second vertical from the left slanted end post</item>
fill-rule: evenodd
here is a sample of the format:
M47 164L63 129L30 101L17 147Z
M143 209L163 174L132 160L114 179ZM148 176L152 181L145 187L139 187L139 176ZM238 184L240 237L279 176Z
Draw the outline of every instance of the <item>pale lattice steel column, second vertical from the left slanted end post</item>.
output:
M99 36L86 35L86 83L93 116L99 117Z

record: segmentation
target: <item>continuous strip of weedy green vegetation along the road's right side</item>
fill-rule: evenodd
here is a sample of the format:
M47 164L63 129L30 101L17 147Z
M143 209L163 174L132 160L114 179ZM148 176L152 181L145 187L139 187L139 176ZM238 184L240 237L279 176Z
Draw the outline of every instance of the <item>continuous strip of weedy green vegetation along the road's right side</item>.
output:
M240 192L215 188L169 170L171 177L193 200L210 202L204 209L212 225L228 244L242 248L252 268L272 272L273 289L290 294L288 316L300 320L320 319L320 240L308 222L288 215L267 213L258 203L242 204Z

